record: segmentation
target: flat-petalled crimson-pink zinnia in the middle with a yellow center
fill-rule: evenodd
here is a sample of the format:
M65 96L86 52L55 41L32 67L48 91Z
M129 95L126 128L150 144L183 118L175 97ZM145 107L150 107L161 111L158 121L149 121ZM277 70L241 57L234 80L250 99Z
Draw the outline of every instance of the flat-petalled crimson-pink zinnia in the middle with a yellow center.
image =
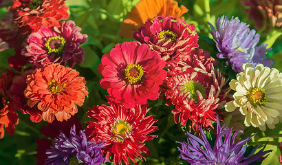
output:
M159 85L166 78L166 71L162 70L165 62L149 45L121 43L101 61L98 72L105 78L99 84L107 89L111 100L134 107L158 98Z

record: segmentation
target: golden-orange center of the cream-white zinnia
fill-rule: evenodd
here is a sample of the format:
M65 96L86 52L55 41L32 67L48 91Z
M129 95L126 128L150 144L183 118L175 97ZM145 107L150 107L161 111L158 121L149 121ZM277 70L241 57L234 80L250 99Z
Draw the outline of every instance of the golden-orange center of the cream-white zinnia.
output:
M264 102L267 100L265 95L265 89L252 88L247 94L247 98L249 102L254 106L257 106L258 104L259 105L264 104Z

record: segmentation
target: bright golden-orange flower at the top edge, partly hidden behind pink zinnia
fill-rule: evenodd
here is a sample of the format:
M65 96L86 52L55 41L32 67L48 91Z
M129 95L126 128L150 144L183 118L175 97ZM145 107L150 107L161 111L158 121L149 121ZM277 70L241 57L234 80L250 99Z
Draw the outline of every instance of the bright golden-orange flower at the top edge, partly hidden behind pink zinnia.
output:
M132 37L133 32L138 32L138 29L148 20L152 20L157 16L173 16L177 19L184 20L182 14L188 12L188 9L173 0L140 0L131 12L127 13L127 19L121 24L120 35Z

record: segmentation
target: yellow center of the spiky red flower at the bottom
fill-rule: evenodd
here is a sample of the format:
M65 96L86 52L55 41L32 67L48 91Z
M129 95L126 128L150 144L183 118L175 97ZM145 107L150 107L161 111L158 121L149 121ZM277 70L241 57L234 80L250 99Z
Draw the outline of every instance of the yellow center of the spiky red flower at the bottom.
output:
M131 131L131 126L128 122L124 120L118 120L111 126L111 133L113 133L113 138L120 142L123 142L125 138L128 138Z

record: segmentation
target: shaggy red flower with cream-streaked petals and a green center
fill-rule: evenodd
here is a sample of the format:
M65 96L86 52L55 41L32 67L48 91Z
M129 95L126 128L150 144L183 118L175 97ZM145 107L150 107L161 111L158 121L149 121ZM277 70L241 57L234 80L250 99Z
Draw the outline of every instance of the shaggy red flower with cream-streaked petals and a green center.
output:
M228 90L223 74L213 68L213 60L199 58L193 54L186 61L172 63L168 66L168 76L164 80L164 94L169 99L167 104L174 104L175 122L184 126L192 121L193 129L213 127L218 109L224 107Z

